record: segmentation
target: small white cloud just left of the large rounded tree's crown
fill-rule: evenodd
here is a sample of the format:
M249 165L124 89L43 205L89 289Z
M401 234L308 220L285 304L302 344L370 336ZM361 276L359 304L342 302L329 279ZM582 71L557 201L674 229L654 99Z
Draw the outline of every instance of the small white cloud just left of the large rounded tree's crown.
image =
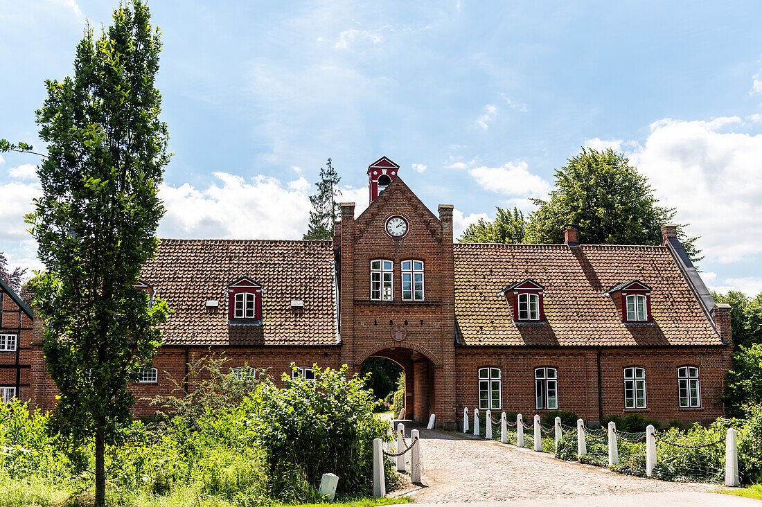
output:
M475 167L469 169L469 175L475 178L479 186L496 194L510 197L545 197L550 185L538 175L533 175L523 160L508 162L500 167Z

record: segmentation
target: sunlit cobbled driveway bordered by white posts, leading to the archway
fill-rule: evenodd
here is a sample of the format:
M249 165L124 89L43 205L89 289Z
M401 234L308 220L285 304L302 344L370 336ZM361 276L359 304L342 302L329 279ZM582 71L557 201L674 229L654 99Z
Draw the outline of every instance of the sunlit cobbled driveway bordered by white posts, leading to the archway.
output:
M416 503L762 506L756 500L708 493L718 489L709 484L626 476L496 441L419 430L424 486L392 493L410 496Z

